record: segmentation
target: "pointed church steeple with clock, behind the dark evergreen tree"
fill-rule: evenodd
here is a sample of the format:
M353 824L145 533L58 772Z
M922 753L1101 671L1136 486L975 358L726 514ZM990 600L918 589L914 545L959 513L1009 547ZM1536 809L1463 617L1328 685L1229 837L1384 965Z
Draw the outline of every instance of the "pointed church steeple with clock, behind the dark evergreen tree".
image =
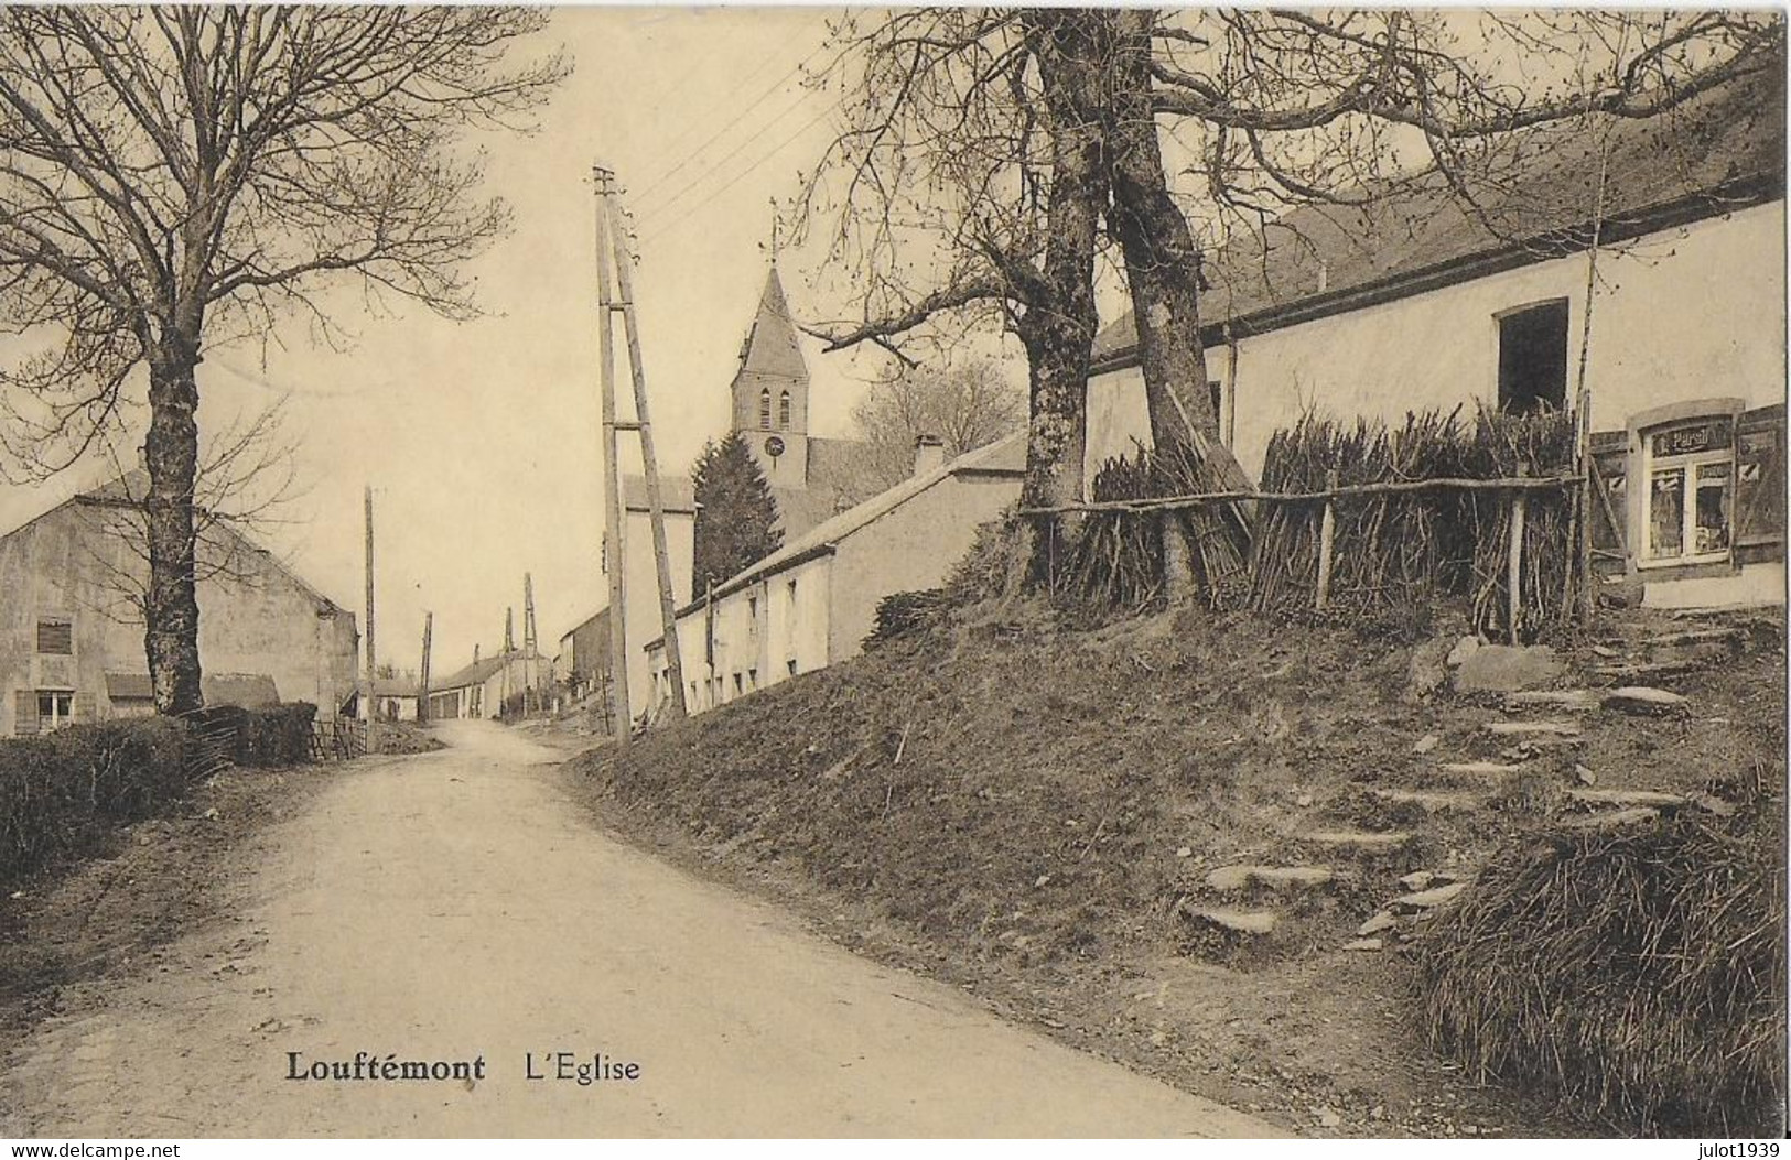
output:
M808 362L790 317L777 260L765 276L759 308L740 345L734 372L734 430L747 437L765 476L777 487L808 483Z

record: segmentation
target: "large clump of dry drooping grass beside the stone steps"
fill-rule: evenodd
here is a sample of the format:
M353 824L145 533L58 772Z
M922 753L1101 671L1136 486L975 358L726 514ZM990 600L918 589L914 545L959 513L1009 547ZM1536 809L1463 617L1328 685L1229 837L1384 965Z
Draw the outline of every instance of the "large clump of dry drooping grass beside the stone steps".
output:
M1784 1128L1780 813L1556 831L1418 949L1431 1038L1630 1131Z

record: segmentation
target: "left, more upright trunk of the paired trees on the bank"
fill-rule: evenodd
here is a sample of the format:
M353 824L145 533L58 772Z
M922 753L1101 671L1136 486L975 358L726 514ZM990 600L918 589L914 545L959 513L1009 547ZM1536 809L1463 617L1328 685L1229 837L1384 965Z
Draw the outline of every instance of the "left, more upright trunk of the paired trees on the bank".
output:
M1105 127L1087 109L1103 100L1109 38L1098 13L1033 9L1024 20L1050 115L1051 197L1042 285L1017 328L1032 396L1021 505L1055 507L1082 498L1089 362L1100 326L1094 240L1107 204ZM1060 519L1035 525L1035 580L1050 578L1060 526Z

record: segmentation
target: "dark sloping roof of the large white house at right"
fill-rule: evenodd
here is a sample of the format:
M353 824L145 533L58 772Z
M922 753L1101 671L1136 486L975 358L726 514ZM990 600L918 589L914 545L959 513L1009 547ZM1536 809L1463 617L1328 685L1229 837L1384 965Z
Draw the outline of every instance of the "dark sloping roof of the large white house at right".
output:
M1508 150L1501 168L1515 177L1472 188L1478 211L1440 179L1363 208L1293 209L1211 256L1202 319L1214 337L1225 319L1241 333L1261 333L1368 288L1397 297L1406 279L1417 288L1420 276L1478 256L1535 261L1583 249L1607 131L1607 236L1621 233L1624 218L1641 222L1687 199L1689 213L1712 217L1734 208L1725 195L1743 186L1784 195L1784 75L1768 70L1655 118L1513 134L1501 145ZM1127 311L1096 337L1094 358L1128 358L1134 345Z

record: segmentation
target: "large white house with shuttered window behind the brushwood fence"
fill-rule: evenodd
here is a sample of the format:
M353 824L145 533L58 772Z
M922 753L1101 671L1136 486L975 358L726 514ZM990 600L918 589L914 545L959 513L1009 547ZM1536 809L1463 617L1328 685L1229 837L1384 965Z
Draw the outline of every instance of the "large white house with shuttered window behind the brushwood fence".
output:
M1221 439L1259 478L1306 410L1571 410L1583 349L1601 571L1655 605L1782 601L1784 127L1784 77L1757 75L1660 118L1530 134L1478 211L1406 190L1214 252ZM1087 476L1148 444L1127 315L1096 340Z

